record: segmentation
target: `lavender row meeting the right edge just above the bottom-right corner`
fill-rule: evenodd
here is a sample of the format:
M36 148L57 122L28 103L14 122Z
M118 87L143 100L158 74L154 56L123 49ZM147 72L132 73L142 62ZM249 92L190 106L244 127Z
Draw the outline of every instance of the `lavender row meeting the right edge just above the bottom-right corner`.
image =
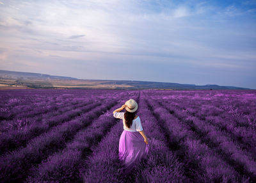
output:
M227 161L229 160L230 164L232 164L236 170L241 171L241 174L250 176L251 179L256 178L255 161L248 155L248 152L244 152L232 139L225 136L225 134L216 127L199 120L195 116L188 116L184 112L182 114L182 111L175 114L179 116L180 119L183 119L185 123L190 124L190 127L195 129L195 131L200 133L201 139L204 137L205 142L209 141L209 145L211 145L216 152L225 156Z

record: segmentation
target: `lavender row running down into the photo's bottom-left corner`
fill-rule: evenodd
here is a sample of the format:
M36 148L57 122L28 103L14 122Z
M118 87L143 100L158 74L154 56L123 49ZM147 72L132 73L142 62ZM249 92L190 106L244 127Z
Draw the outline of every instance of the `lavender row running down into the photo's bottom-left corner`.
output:
M31 140L26 148L16 150L0 158L0 182L21 182L26 179L29 169L54 152L66 147L77 131L86 128L102 111L113 106L116 101L108 100L106 104L82 115L80 118L65 122L51 131Z

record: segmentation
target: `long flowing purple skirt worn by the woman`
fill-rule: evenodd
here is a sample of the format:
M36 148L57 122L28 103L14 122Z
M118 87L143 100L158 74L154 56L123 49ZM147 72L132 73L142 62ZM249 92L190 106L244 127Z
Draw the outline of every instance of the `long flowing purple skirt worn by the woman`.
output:
M148 143L149 144L149 143ZM141 158L148 154L148 144L140 132L123 131L119 140L118 157L123 167L123 173L130 173Z

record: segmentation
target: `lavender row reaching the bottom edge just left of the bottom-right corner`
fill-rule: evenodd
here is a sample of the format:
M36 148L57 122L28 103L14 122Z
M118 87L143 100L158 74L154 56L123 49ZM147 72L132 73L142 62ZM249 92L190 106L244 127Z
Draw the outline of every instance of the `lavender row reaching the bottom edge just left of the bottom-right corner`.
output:
M186 154L188 162L197 163L201 175L197 175L204 182L207 181L232 181L240 182L239 174L232 166L229 166L211 148L202 143L200 138L196 138L195 132L189 130L188 126L177 118L173 117L166 109L159 106L154 100L148 99L154 113L159 116L161 121L166 122L173 140L173 144L179 144L178 150ZM181 153L178 151L178 153ZM195 172L196 173L196 172ZM239 179L237 179L239 177Z

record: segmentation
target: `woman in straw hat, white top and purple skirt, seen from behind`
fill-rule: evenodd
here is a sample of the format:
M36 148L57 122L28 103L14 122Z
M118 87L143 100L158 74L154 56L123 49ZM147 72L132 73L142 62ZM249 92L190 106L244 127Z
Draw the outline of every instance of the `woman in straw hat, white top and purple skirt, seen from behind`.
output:
M124 108L125 113L120 113ZM122 107L113 111L113 116L122 119L124 124L124 131L119 140L118 157L124 166L125 174L130 173L141 158L148 154L149 150L148 139L143 132L140 116L135 114L137 109L137 102L130 99Z

